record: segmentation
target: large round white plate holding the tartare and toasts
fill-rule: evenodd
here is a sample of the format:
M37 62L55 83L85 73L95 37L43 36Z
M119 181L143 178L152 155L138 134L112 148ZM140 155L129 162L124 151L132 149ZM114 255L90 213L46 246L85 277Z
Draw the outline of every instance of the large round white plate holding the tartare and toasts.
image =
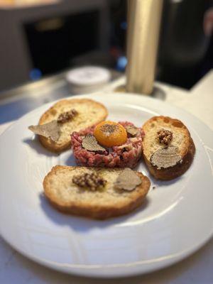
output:
M196 146L190 170L170 182L151 178L145 204L125 217L92 221L61 214L45 200L43 178L53 165L75 162L71 151L53 155L28 131L52 103L45 104L0 137L0 230L4 239L44 266L104 278L154 271L199 249L213 231L212 131L185 111L156 99L121 93L83 97L104 103L109 119L132 121L136 126L156 114L181 119ZM143 163L138 170L148 175Z

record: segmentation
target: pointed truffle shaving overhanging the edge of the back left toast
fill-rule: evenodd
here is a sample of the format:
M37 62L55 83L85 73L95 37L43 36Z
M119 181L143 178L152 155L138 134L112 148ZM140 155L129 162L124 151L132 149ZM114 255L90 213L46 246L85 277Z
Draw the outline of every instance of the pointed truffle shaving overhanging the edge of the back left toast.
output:
M53 120L48 122L48 124L42 125L31 125L28 127L33 133L38 134L40 136L44 136L46 138L50 138L53 141L57 141L60 135L60 129L58 126L58 122Z

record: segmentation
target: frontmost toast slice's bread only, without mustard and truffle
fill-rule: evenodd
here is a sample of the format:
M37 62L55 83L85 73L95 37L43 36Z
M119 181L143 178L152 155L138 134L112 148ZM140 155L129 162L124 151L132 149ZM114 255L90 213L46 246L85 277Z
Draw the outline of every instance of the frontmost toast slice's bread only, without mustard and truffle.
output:
M103 190L82 189L72 182L75 175L91 172L99 173L107 181ZM65 213L94 219L107 219L127 214L142 204L151 183L142 173L135 172L141 178L141 185L132 191L117 190L114 182L121 172L120 168L56 165L43 181L45 196L54 207Z

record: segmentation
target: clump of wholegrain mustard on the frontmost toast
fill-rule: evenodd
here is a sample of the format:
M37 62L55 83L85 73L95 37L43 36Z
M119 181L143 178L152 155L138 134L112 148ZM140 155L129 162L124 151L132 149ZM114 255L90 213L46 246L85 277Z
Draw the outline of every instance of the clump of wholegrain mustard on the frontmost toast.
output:
M107 180L104 180L97 173L84 173L82 175L75 175L72 182L79 187L88 188L89 190L101 190L106 185Z

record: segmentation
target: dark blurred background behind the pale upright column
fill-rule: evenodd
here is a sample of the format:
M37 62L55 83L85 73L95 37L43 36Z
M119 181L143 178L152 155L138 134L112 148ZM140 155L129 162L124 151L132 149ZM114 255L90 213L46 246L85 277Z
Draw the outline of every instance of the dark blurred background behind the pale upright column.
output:
M0 9L0 92L80 65L124 72L126 12L126 0ZM164 0L157 80L190 89L213 67L212 31L213 0Z

